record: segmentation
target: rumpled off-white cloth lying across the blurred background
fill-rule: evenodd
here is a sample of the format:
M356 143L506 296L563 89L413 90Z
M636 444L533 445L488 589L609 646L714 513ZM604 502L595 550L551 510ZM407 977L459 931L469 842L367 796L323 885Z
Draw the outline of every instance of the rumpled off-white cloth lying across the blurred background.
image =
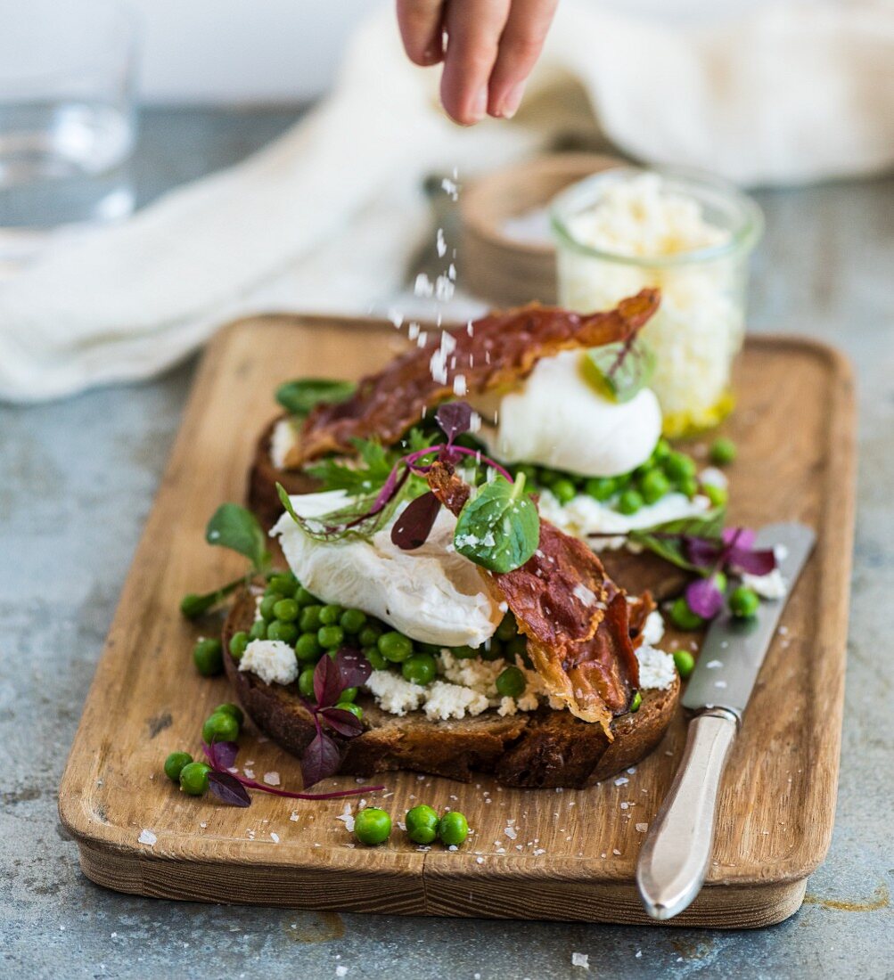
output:
M773 3L711 25L563 0L513 123L445 120L436 74L402 55L391 5L362 25L332 94L228 171L61 243L0 284L0 398L144 378L259 309L365 312L419 247L433 170L486 169L568 123L569 86L650 163L744 185L894 163L894 5Z

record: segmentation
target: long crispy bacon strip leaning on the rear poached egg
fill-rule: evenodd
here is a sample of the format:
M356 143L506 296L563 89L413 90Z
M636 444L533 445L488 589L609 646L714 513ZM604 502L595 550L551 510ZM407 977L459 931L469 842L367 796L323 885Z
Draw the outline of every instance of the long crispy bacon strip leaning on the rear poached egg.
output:
M581 316L530 305L490 314L467 329L431 332L427 342L361 380L339 405L320 405L306 419L286 466L303 466L326 453L351 453L355 438L396 442L425 411L456 397L454 381L481 395L508 389L541 359L574 348L626 340L658 309L657 289L621 300L616 310Z

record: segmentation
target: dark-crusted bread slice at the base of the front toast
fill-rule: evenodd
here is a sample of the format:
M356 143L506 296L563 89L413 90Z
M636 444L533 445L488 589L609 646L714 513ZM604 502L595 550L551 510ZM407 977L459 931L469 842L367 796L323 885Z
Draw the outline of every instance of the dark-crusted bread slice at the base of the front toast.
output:
M315 728L297 685L267 684L240 671L228 653L232 634L249 629L254 616L254 597L241 593L224 623L226 674L254 723L300 757ZM579 789L647 756L671 723L678 698L678 678L668 691L644 691L639 711L616 720L613 742L599 725L569 711L543 707L508 717L485 711L460 721L431 721L422 711L388 714L368 695L357 699L364 710L364 733L353 739L329 734L343 753L339 771L350 775L413 769L468 782L474 772L489 772L505 786Z

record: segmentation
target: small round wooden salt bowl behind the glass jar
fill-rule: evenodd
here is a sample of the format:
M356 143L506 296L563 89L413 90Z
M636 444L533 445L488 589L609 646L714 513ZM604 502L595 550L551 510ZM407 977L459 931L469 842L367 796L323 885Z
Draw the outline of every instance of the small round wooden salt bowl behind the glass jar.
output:
M507 222L547 208L561 190L591 173L621 166L622 161L595 153L538 157L479 177L463 188L463 285L495 306L520 306L531 300L556 302L556 249L552 238L522 240L507 232Z

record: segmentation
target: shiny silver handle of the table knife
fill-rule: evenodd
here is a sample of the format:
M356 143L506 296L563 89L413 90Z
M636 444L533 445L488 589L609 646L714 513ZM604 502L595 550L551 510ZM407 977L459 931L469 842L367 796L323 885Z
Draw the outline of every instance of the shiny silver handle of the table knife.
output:
M672 918L702 889L714 845L720 777L737 729L736 716L722 708L689 722L683 760L636 867L639 894L652 918Z

